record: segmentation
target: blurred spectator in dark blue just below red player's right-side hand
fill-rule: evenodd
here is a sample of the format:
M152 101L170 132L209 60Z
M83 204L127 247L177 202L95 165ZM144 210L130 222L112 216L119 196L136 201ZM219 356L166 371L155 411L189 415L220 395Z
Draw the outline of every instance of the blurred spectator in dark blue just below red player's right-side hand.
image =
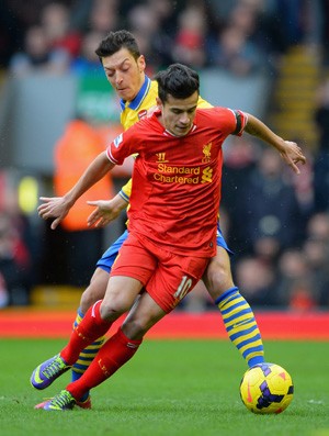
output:
M296 193L285 181L283 163L274 150L263 150L245 180L239 205L238 226L251 253L273 260L300 242L303 223Z

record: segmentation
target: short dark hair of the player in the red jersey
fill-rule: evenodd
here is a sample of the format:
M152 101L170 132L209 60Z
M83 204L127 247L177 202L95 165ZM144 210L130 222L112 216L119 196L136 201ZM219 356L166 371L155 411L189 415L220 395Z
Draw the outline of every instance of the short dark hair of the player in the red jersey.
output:
M175 99L186 99L195 91L200 92L198 74L182 64L172 64L156 75L158 96L164 103L168 94Z

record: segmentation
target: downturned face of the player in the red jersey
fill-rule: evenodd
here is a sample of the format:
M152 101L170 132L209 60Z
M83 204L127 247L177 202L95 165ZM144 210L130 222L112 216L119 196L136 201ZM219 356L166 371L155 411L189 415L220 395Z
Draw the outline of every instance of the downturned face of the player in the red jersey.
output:
M169 94L164 104L158 100L158 105L160 105L162 112L162 123L171 134L184 136L190 132L197 100L198 92L196 91L188 99L174 99Z

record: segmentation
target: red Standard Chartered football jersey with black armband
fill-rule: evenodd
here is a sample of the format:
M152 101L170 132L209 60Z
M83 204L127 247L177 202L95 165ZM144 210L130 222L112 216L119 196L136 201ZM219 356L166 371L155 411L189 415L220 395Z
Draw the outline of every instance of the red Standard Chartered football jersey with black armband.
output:
M128 230L177 254L214 256L222 144L229 134L242 133L247 118L226 108L197 109L190 133L177 137L159 114L136 123L107 147L109 159L117 165L138 154Z

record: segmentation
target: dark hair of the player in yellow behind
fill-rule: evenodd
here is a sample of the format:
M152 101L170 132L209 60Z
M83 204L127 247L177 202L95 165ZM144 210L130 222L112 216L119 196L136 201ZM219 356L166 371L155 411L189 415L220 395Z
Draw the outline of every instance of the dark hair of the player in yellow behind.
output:
M95 49L95 54L102 62L103 57L112 56L121 48L127 51L137 59L140 56L139 47L135 36L128 31L110 32Z

